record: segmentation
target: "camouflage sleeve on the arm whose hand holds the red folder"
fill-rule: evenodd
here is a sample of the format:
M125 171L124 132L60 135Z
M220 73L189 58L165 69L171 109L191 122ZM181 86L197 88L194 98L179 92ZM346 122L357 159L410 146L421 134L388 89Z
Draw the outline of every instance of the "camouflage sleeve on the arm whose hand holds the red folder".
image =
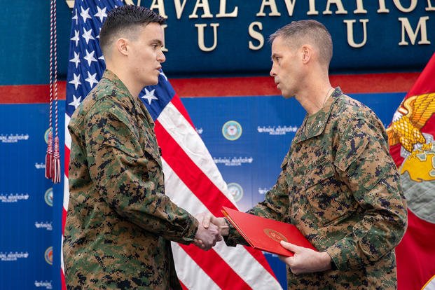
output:
M326 249L340 270L378 261L394 251L406 230L406 201L383 131L355 120L338 139L334 165L364 209L351 232Z

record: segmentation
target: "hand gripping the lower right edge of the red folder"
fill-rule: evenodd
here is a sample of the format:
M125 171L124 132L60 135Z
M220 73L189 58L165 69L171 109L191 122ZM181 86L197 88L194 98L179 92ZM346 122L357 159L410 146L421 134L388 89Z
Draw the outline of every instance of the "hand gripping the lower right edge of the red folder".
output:
M280 256L279 259L289 265L292 273L321 272L331 269L331 256L328 253L296 246L289 242L281 241L282 247L294 252L294 256Z

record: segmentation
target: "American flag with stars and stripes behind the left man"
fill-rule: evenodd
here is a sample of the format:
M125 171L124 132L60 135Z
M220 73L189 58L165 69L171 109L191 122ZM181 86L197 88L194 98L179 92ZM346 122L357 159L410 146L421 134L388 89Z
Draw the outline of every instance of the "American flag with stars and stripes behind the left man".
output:
M69 118L101 78L105 65L99 48L99 31L107 12L121 1L76 0L71 24L65 116L65 178L62 240L67 216L68 164L71 137ZM158 85L139 95L153 117L162 149L166 194L192 214L209 211L221 216L221 207L236 208L212 156L174 92L160 73ZM185 289L281 289L261 251L226 247L223 242L209 251L172 242L179 280ZM62 289L65 289L61 255Z

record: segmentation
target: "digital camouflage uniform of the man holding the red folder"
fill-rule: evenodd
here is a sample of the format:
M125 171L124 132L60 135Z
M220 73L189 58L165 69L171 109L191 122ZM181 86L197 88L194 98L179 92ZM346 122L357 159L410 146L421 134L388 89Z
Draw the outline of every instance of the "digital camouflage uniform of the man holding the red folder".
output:
M306 116L277 184L249 213L293 223L338 270L294 275L289 289L396 289L406 230L400 177L375 113L340 88ZM228 245L246 244L231 227Z

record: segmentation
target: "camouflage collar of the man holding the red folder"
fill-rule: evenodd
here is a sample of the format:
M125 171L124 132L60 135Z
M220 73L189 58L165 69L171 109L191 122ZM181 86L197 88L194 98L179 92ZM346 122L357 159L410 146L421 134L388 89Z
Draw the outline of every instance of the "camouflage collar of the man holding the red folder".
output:
M324 132L329 115L331 115L333 104L340 95L343 95L343 92L340 87L337 87L333 90L331 97L326 101L322 109L312 116L309 116L307 113L301 125L301 134L295 137L296 143L319 136L319 134Z

